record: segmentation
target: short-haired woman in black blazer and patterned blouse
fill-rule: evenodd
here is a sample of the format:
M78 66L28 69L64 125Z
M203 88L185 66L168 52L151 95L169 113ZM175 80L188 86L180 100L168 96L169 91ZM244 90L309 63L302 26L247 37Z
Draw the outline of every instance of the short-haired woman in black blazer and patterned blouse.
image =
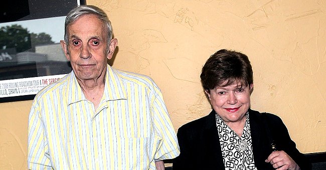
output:
M179 128L174 170L311 169L278 116L249 108L253 75L245 54L217 51L200 77L213 110Z

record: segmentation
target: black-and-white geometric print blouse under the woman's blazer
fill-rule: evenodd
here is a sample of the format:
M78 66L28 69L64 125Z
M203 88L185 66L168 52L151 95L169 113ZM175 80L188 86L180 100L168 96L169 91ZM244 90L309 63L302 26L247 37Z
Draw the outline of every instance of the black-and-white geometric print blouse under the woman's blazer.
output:
M240 137L218 114L215 114L225 170L257 170L252 152L248 112L246 116Z

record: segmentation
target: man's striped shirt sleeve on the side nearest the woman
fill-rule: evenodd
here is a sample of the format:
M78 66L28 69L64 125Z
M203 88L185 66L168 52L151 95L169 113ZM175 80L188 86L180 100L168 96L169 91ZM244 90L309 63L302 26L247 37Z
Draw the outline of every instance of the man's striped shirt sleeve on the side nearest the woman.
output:
M176 131L160 91L156 93L152 102L151 115L155 133L161 139L155 151L155 161L177 157L180 149Z

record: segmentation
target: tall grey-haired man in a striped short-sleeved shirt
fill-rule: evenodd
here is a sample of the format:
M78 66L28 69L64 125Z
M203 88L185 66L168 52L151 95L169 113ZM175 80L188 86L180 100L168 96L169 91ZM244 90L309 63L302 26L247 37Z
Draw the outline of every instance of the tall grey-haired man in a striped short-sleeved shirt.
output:
M157 85L107 64L117 39L102 9L72 9L61 45L73 71L35 96L30 169L164 169L179 155Z

